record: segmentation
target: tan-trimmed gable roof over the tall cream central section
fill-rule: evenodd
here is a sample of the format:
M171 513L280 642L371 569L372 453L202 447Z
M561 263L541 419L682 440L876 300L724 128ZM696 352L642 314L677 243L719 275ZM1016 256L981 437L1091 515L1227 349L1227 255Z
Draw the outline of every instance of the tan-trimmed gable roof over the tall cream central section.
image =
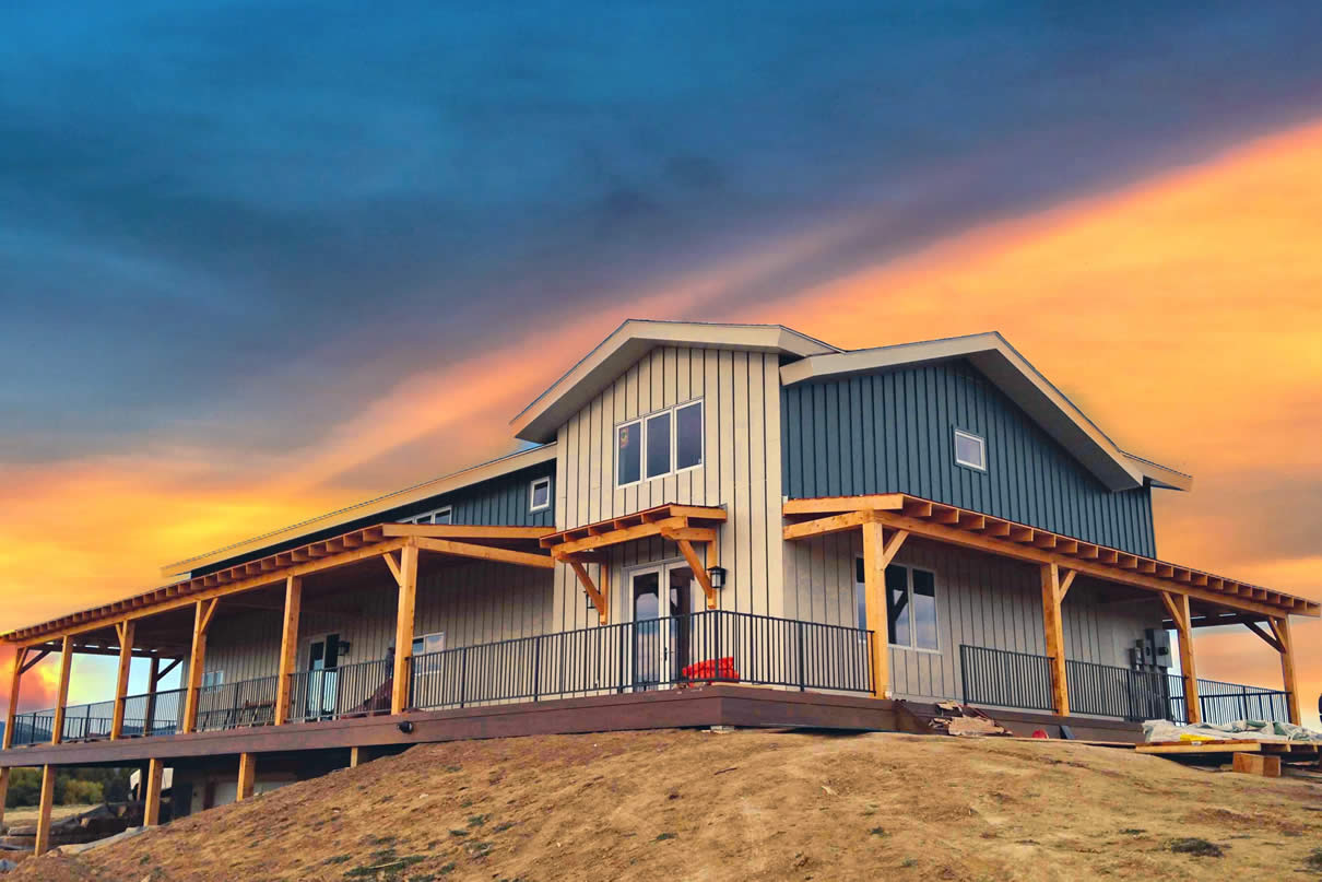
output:
M554 440L571 415L656 346L776 352L791 358L839 352L783 325L629 319L510 421L514 435Z

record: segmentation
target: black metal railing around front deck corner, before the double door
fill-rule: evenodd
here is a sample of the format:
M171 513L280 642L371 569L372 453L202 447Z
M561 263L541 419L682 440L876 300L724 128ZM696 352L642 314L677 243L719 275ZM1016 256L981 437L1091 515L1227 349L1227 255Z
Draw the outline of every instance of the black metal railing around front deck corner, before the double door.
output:
M419 709L538 701L698 682L870 693L870 632L746 612L562 631L410 660Z

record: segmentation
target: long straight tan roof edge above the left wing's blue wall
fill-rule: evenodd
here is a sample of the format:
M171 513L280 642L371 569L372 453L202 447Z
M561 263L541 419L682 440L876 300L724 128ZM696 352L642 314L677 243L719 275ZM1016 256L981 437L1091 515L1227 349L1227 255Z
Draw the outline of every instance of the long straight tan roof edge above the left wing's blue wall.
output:
M190 574L196 570L205 569L208 566L221 563L237 558L243 554L250 554L254 551L260 551L262 549L278 545L280 542L287 542L297 540L300 537L319 533L323 530L334 529L337 526L344 526L353 521L358 521L365 517L371 517L374 514L381 514L389 512L390 509L401 508L403 505L411 505L412 502L422 502L432 496L440 496L442 493L449 493L452 491L463 489L465 487L472 487L473 484L480 484L481 481L488 481L493 477L500 477L502 475L509 475L531 465L538 465L541 463L551 461L555 459L555 444L542 444L539 447L533 447L530 450L518 451L516 454L509 454L508 456L501 456L500 459L493 459L486 463L480 463L479 465L469 465L468 468L444 475L442 477L423 481L422 484L414 484L412 487L406 487L402 491L394 491L393 493L386 493L385 496L377 496L365 502L357 502L354 505L348 505L345 508L329 512L327 514L320 514L317 517L293 524L291 526L282 528L279 530L272 530L270 533L263 533L262 536L253 537L250 540L243 540L242 542L235 542L234 545L226 545L225 547L217 549L214 551L208 551L206 554L198 554L196 557L185 558L175 563L167 563L161 567L161 575L171 578L176 575Z

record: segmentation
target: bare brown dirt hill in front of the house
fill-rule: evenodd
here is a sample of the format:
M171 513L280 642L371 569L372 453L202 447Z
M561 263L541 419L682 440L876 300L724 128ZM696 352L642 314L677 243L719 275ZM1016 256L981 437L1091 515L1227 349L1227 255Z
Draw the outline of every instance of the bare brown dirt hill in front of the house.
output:
M1318 783L1132 751L657 731L419 746L11 878L1272 879L1319 833Z

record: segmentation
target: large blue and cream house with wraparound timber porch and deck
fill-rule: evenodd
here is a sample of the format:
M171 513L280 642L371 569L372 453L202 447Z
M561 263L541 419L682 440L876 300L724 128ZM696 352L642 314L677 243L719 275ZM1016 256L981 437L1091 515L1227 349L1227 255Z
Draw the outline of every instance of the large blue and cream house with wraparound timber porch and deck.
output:
M1300 719L1290 616L1318 603L1161 559L1153 493L1192 480L997 333L627 321L512 426L516 454L0 635L15 697L61 656L58 706L11 701L0 767L145 764L153 821L167 764L202 808L217 776L243 799L419 741L894 729L936 701L1107 739ZM1196 677L1194 631L1229 625L1282 689ZM118 656L115 694L65 706L75 653Z

